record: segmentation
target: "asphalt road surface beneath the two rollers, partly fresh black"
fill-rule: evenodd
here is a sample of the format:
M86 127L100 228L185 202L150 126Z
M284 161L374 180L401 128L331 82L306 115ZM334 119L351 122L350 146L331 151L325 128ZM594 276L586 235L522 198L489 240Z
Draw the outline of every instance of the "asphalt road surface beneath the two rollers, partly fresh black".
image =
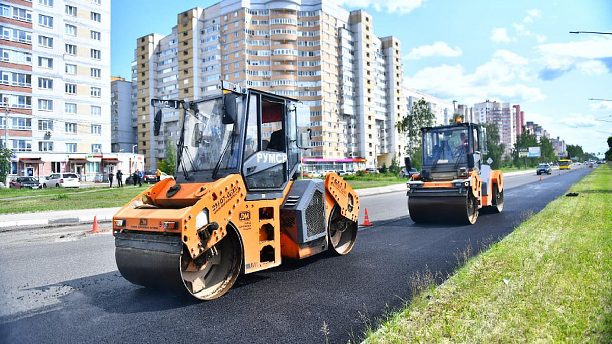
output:
M283 261L207 302L127 282L110 233L4 233L0 342L354 342L410 299L417 276L427 271L442 282L463 256L511 233L590 171L506 178L504 212L472 226L416 225L405 192L363 196L374 225L360 228L351 253Z

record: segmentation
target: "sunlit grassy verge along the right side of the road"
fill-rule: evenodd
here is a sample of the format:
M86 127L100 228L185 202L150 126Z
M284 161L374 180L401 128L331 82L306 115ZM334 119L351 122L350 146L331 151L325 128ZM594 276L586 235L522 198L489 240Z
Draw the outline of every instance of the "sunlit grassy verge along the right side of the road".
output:
M472 258L441 286L423 278L368 343L612 342L612 168Z

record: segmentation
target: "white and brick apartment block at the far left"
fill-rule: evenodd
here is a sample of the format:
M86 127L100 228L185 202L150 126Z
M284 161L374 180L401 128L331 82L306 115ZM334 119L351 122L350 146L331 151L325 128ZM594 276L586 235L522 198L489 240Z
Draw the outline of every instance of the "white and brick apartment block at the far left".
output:
M0 32L10 176L99 176L111 152L110 0L2 1Z

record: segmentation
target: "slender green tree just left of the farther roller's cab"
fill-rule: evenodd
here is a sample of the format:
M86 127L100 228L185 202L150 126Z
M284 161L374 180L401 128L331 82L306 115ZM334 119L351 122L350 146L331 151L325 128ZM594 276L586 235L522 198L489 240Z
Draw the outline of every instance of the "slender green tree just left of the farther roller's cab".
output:
M406 155L414 162L418 160L420 165L420 129L423 127L433 127L435 115L431 112L429 103L424 98L421 98L413 105L411 113L406 114L401 121L395 124L395 127L404 136L406 142L408 142ZM417 151L419 153L418 157ZM412 165L416 166L414 162Z

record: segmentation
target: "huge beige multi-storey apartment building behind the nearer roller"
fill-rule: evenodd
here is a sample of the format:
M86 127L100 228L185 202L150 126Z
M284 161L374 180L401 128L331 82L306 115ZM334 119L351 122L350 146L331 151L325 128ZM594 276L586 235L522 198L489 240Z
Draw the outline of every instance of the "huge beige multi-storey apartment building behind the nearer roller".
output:
M151 98L195 100L220 80L301 100L313 133L310 170L390 164L404 151L401 42L374 34L372 16L330 0L226 0L177 14L171 34L136 39L132 69L138 152L147 166L179 135L178 110L164 110L152 136Z

